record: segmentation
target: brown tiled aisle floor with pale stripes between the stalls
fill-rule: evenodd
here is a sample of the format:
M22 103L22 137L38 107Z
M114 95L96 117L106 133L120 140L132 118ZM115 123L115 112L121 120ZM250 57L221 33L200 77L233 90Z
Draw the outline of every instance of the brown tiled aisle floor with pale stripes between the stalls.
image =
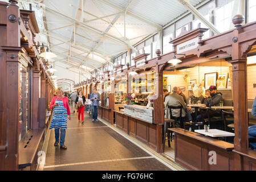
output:
M51 130L44 170L171 170L102 122L79 123L75 114L68 120L65 145L54 146Z

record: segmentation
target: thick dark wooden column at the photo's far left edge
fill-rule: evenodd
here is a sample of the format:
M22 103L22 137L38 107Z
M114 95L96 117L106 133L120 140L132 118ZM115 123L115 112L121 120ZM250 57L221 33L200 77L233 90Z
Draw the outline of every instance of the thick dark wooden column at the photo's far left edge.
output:
M0 170L18 169L18 121L19 121L19 78L20 63L19 51L21 51L19 32L20 27L19 7L17 1L10 1L6 9L4 6L0 11L0 17L6 18L6 24L0 28L1 40L0 46L2 54L0 59L3 67L0 68L2 81L2 97L0 107L1 113L1 131L4 135L0 143ZM5 22L5 21L2 21ZM2 69L5 69L4 71ZM4 124L2 124L4 123ZM2 135L1 135L2 137Z

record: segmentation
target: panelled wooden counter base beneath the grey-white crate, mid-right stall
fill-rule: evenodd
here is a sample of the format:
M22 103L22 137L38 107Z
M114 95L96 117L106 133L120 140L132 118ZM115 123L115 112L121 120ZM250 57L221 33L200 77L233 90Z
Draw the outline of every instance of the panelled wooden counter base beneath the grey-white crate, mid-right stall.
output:
M126 108L127 105L124 105ZM144 106L129 105L131 107L138 107L143 109ZM153 108L150 109L153 111ZM115 110L116 127L125 131L128 135L147 144L153 150L157 150L157 125L153 122L147 121L141 117L127 114L126 111Z

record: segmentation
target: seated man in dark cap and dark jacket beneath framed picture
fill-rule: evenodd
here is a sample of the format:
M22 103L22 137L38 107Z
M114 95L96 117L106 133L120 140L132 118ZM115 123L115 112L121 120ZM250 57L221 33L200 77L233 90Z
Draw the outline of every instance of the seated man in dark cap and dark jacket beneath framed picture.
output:
M209 92L205 94L205 98L207 98L206 106L220 106L220 101L224 101L222 98L222 93L217 92L217 88L214 85L210 86L208 90ZM206 109L201 109L200 112L200 115L197 115L197 121L203 122L204 119L207 118L207 111ZM221 111L216 109L209 109L209 115L210 117L220 116Z

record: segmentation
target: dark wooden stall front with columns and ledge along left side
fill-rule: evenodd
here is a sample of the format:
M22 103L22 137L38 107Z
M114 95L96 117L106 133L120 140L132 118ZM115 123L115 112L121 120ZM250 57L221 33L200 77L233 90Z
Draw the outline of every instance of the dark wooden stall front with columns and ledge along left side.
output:
M35 13L17 3L0 2L0 170L36 169L55 90Z

